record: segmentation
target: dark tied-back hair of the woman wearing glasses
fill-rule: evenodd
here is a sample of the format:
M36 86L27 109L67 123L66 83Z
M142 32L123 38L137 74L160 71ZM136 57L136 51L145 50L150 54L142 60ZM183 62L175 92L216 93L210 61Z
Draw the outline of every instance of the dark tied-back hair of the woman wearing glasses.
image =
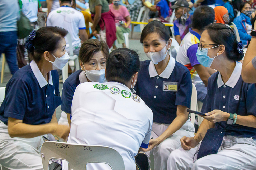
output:
M224 45L226 56L229 60L242 60L244 53L237 50L238 41L234 31L222 23L213 23L205 27L211 40L216 45Z

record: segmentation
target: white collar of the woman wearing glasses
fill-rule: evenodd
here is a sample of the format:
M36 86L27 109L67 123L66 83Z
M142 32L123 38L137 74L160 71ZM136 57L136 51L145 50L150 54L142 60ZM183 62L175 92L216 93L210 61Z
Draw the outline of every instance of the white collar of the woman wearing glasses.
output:
M243 64L240 62L236 62L234 71L232 72L230 78L228 79L228 81L226 82L225 85L227 85L231 88L234 88L234 86L236 86L237 81L239 80L241 72L242 72L242 65ZM218 88L221 87L222 85L224 85L222 78L221 78L221 73L219 73L219 75L218 75L217 83L218 83Z

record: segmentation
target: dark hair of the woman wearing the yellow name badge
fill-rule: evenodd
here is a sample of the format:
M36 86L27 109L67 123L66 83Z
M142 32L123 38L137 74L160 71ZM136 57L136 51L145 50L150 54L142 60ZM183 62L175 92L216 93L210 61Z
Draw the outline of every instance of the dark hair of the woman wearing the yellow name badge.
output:
M140 43L143 43L143 40L150 33L158 33L166 42L170 39L169 30L165 24L160 21L151 21L143 28L140 36Z

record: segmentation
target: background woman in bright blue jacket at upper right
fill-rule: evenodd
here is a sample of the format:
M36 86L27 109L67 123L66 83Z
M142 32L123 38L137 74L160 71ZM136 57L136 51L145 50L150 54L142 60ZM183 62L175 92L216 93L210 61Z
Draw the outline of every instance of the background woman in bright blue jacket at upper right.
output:
M252 38L250 36L250 32L252 30L252 24L250 21L250 17L252 15L251 5L248 2L242 2L239 11L241 12L241 15L234 19L234 24L237 26L243 47L246 47Z

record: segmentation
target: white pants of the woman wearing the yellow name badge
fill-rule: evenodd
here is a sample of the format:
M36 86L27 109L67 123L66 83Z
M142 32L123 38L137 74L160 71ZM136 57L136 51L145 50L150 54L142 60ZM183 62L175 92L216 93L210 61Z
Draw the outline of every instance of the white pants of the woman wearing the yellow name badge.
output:
M159 124L153 123L150 138L159 137L170 124ZM166 170L167 169L167 159L172 151L181 147L180 139L183 136L194 137L195 128L190 120L179 129L177 132L169 136L162 143L157 145L150 151L145 152L147 157L153 153L155 170Z

